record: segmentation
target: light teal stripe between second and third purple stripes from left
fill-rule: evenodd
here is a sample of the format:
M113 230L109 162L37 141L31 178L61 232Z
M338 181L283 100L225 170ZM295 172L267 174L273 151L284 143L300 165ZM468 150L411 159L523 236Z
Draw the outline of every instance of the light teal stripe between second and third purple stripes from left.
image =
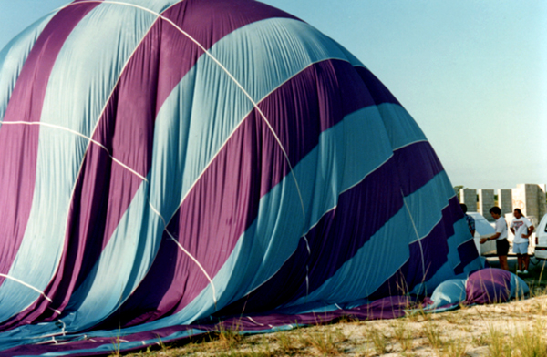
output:
M272 35L268 32L271 29L268 29L273 26L281 26L286 31L275 32ZM299 31L300 36L291 35L294 31ZM309 36L305 36L306 33L309 33ZM253 93L253 97L262 98L261 96L266 96L306 66L341 56L338 47L328 39L325 39L325 43L318 43L317 39L306 39L314 36L317 36L316 30L300 21L268 19L234 31L215 44L210 52L212 56L219 58L231 73L239 74L237 80L241 81L243 87L252 87L250 92ZM290 46L285 45L287 43ZM241 44L246 46L240 48ZM303 56L303 60L292 62L293 56L284 55L287 51L310 51L312 56ZM269 56L272 60L279 57L283 60L274 60L275 71L272 71L270 66L260 66L253 69L253 76L256 78L247 78L250 68L258 66L253 63L253 59L247 62L248 58L259 61L260 56ZM242 64L246 66L238 67ZM103 250L90 278L73 295L70 306L77 307L77 311L67 319L72 329L91 326L108 316L109 312L114 311L118 303L124 301L138 286L150 268L164 226L153 209L146 204L143 205L143 202L150 199L152 207L169 221L193 183L251 110L253 103L244 95L241 87L237 86L211 56L201 56L198 63L181 80L180 85L175 87L158 113L154 129L152 168L148 176L150 185L139 189L122 218L119 229L114 232ZM293 178L284 182L284 185L294 186ZM292 197L275 197L268 204L275 207L274 210L286 207L280 214L291 216L292 219L297 218L298 234L301 234L302 209L300 201L294 200L298 198L297 192L291 190L294 192ZM284 219L282 216L277 219ZM140 222L146 222L146 226L142 230L132 232L131 237L134 237L134 240L125 240L126 230L140 225ZM139 254L143 254L144 259L131 255L135 251L135 244L138 245ZM112 261L112 257L118 256L121 252L126 260L125 267ZM116 277L112 276L112 271L117 271ZM124 285L123 281L127 280L129 283ZM96 284L94 281L101 283ZM119 291L119 296L117 299L110 299L105 296L104 291ZM212 292L208 298L212 301Z

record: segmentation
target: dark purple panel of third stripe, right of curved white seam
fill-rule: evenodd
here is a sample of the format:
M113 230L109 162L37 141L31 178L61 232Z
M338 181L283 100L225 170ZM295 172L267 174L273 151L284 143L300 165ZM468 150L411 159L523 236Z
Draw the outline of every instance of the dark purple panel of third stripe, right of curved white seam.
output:
M317 146L322 132L346 115L374 104L353 66L326 60L291 78L263 99L259 107L294 166ZM290 171L288 165L284 165L284 171L285 175ZM279 183L270 179L263 175L263 194Z

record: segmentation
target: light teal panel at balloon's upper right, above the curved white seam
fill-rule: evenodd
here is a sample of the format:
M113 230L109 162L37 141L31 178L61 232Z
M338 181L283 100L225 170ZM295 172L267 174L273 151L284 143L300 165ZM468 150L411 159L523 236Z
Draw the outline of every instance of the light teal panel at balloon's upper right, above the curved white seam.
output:
M316 62L348 61L333 40L308 24L286 18L244 26L212 46L210 53L255 102Z

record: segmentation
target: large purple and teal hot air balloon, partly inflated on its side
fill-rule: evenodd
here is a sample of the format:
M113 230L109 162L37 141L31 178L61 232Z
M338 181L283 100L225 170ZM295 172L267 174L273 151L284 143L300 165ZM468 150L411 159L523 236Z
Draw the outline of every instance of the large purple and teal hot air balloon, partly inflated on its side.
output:
M253 0L46 15L0 52L0 153L0 354L393 317L483 266L397 99Z

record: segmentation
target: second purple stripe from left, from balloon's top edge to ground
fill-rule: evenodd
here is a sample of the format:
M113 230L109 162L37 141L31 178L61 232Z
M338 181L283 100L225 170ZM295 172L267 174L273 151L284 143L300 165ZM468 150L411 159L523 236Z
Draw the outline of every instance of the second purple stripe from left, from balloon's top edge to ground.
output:
M237 21L224 22L222 26L217 23L211 36L201 29L208 28L203 27L205 22L215 23L222 15L218 10L227 5L218 3L223 5L215 7L216 12L212 13L210 4L185 1L172 6L164 15L205 44L206 48L239 26L267 16L289 16L268 5L236 1L230 4L231 11L235 10L232 5L243 6L246 8L243 16ZM242 15L237 11L234 14ZM196 22L196 18L200 21ZM156 114L172 88L195 65L201 54L198 46L167 22L160 20L154 24L120 76L93 139L102 143L123 164L146 176L151 165ZM46 290L54 302L46 306L47 301L43 301L40 309L34 309L33 316L44 312L40 319L55 318L51 314L52 309L62 311L72 291L88 277L141 184L141 179L119 164L113 164L100 151L91 146L85 158L85 169L75 192L75 198L82 199L75 199L72 203L66 254L55 280ZM65 264L68 264L66 269L70 273L64 273ZM49 309L46 310L46 307Z

